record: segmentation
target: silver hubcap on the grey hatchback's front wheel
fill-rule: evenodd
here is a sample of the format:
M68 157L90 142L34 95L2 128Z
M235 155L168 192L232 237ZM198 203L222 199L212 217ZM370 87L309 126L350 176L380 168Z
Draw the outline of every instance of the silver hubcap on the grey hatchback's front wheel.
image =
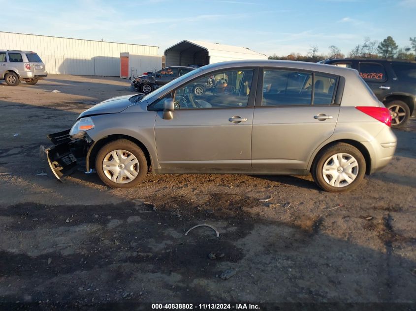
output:
M105 176L118 184L132 181L137 177L139 169L137 158L126 150L111 151L102 161L102 170Z

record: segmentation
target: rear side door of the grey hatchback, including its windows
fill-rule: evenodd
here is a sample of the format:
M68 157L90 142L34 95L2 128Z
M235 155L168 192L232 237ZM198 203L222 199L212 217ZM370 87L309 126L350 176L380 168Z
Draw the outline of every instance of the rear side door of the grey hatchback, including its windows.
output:
M252 167L276 173L304 170L312 152L334 132L339 78L264 68L253 118ZM259 79L261 80L261 79Z

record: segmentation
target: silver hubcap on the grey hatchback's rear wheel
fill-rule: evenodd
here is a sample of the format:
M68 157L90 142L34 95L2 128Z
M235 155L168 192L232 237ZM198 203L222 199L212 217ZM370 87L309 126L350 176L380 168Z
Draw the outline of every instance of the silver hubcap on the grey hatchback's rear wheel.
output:
M350 185L358 175L358 162L348 153L337 153L325 161L322 168L323 179L333 187Z

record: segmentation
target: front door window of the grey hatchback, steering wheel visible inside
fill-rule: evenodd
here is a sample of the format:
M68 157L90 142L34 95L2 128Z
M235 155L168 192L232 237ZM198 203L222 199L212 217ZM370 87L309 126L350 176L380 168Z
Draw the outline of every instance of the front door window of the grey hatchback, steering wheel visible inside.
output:
M227 70L208 74L175 92L177 109L247 107L254 69Z

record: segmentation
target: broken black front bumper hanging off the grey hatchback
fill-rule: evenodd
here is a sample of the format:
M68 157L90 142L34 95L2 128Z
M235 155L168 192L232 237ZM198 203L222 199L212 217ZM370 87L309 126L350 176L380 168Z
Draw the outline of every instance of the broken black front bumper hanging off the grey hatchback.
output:
M49 168L60 181L63 177L77 170L78 167L85 165L85 157L90 146L90 143L85 139L72 140L69 131L49 134L48 139L55 146L44 149Z

